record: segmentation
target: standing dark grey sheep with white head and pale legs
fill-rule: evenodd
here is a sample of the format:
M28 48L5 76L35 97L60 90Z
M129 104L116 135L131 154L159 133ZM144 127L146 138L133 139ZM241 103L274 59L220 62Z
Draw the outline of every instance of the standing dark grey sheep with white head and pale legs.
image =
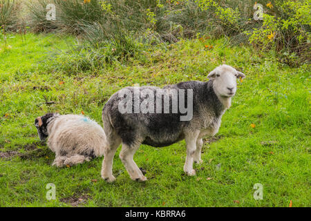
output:
M187 175L195 175L193 162L202 162L202 137L218 132L221 117L231 106L236 93L236 79L245 75L231 66L222 65L207 77L210 79L207 82L181 82L165 86L162 91L151 86L127 87L112 95L102 111L108 144L102 163L102 178L107 182L115 180L113 156L121 142L120 159L131 179L145 181L147 178L133 161L140 144L169 146L184 139L187 144L184 171ZM186 91L187 96L182 96ZM162 97L169 99L169 103L165 103ZM184 102L191 112L187 116L183 115ZM184 108L178 110L176 104Z

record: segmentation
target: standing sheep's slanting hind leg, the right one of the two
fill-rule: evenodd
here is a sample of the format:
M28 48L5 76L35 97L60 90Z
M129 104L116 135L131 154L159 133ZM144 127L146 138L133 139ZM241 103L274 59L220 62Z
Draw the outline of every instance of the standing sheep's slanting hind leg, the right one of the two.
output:
M137 164L133 160L133 156L139 147L140 144L129 146L123 143L122 150L120 152L120 159L132 180L144 182L147 178L142 174L142 171L140 171Z

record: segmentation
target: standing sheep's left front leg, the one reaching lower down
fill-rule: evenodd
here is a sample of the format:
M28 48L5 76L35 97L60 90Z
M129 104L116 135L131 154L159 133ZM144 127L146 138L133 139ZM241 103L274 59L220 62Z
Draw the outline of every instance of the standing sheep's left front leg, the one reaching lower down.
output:
M189 133L185 137L187 144L187 157L184 165L184 171L187 175L196 175L194 170L194 153L196 151L196 140L199 133Z

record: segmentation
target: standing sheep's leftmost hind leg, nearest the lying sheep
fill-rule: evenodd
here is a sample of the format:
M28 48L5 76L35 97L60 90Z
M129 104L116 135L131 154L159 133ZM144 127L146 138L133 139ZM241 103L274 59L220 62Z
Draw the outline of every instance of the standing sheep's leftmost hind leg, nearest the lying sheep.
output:
M104 160L102 161L102 178L106 180L106 182L115 181L115 177L112 173L113 157L120 143L120 138L115 138L115 140L111 142L111 144L109 144L109 146L107 146L104 150Z

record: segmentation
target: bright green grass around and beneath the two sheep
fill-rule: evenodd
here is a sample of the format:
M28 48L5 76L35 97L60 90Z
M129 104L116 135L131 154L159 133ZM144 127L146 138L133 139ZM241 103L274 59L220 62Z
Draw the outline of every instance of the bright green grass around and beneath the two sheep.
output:
M0 52L0 154L18 153L0 159L0 206L288 206L290 200L293 206L311 205L310 66L289 68L273 52L258 56L252 48L230 47L227 39L182 39L167 49L145 50L143 60L67 73L62 67L75 60L57 64L55 52L74 42L32 34L22 42L10 35L12 48ZM83 111L102 124L102 107L116 90L135 83L207 81L209 71L223 63L247 77L238 81L217 139L205 140L196 176L182 171L183 141L140 147L135 162L147 171L145 183L130 179L120 148L113 184L100 177L102 157L70 168L50 166L55 155L39 142L35 117ZM48 183L56 186L56 200L46 200ZM263 200L253 198L256 183L263 184Z

